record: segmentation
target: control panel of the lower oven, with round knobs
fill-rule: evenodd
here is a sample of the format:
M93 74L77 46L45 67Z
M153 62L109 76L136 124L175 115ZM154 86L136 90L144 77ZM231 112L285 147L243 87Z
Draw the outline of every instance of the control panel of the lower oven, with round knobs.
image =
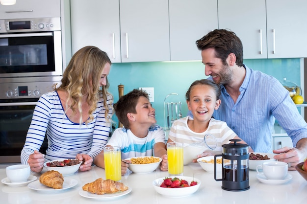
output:
M22 82L0 84L0 99L39 98L42 94L52 91L54 84L61 82Z

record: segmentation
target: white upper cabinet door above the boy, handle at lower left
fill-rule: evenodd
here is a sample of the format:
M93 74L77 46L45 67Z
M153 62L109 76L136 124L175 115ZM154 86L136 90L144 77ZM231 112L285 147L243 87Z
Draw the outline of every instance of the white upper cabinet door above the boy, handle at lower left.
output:
M168 0L120 0L122 62L170 60Z

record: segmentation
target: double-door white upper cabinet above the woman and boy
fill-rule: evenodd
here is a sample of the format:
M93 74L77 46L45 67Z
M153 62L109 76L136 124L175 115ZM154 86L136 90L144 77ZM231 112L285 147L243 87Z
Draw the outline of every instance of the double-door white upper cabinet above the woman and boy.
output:
M168 0L72 0L72 49L105 51L112 62L169 61Z

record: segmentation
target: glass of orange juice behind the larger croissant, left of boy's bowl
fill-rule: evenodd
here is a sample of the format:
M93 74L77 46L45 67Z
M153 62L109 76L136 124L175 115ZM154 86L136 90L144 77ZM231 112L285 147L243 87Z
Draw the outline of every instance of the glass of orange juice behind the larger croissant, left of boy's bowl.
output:
M122 180L121 148L107 146L103 149L105 179Z

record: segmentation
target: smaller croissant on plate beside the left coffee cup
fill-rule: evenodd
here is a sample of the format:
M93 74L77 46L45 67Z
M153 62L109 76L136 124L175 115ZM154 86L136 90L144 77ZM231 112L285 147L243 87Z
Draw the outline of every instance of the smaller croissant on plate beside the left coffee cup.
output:
M42 174L39 181L51 188L61 189L63 188L64 178L60 172L51 170Z

